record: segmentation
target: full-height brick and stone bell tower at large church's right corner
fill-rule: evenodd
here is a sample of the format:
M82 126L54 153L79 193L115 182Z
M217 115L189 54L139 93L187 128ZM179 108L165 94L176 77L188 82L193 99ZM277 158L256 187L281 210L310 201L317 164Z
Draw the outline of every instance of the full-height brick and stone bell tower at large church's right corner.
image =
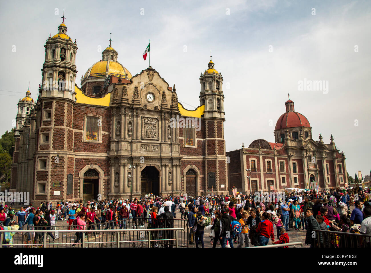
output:
M211 185L219 194L228 193L227 160L224 140L224 95L223 77L215 69L211 59L208 68L200 76L200 105L205 105L203 121L205 124L205 185ZM215 181L215 184L213 183Z

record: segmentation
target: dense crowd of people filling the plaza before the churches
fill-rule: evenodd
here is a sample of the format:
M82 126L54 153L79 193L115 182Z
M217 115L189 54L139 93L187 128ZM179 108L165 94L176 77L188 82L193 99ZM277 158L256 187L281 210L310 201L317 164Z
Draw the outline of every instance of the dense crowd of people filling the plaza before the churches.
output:
M98 237L100 230L132 228L171 228L173 220L180 212L181 219L187 219L189 244L204 247L204 231L210 231L210 243L213 247L250 247L266 246L269 239L272 244L290 242L289 234L306 230L305 244L316 247L318 240L312 236L315 230L332 230L352 233L371 234L371 198L370 190L358 195L347 191L302 191L286 192L284 200L263 198L253 194L238 196L209 195L198 196L154 196L132 200L115 199L102 201L43 202L35 208L29 204L15 212L12 207L0 203L0 228L9 230L47 230L47 236L58 240L55 233L57 221L68 222L68 229L92 230ZM350 206L354 209L350 214ZM135 221L135 219L137 221ZM165 220L165 221L164 221ZM138 226L137 226L138 225ZM276 232L274 231L276 227ZM36 233L33 244L44 240L44 233ZM73 247L82 242L83 232L76 233ZM154 239L159 232L152 232ZM163 238L172 238L168 232ZM9 238L8 238L9 239ZM28 243L31 233L27 234ZM320 242L324 243L321 237ZM12 240L4 241L11 244ZM328 243L328 242L325 242ZM332 242L333 243L333 242ZM172 246L172 242L168 242ZM154 247L158 244L153 243Z

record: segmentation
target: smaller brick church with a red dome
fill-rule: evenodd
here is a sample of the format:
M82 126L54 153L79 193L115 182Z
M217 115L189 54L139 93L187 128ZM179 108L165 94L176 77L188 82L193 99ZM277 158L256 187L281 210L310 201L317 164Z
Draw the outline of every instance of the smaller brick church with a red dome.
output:
M334 137L326 144L312 139L312 127L305 116L286 101L286 112L277 120L275 142L254 140L248 148L227 152L228 181L242 192L285 188L321 189L347 187L344 152L339 153Z

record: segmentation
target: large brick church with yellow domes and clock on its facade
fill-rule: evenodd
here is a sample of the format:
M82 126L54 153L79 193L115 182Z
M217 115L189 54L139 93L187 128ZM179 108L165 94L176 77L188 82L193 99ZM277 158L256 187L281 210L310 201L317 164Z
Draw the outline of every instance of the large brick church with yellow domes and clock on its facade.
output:
M45 43L37 101L28 90L18 104L11 190L33 201L228 192L223 77L211 55L191 111L151 66L132 76L111 43L79 88L77 50L63 18Z

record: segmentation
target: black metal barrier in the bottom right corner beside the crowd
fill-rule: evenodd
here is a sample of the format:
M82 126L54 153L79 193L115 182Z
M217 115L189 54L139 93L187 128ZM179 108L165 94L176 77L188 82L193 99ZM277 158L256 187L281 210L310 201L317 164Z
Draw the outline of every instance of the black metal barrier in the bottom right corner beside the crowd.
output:
M371 247L371 235L369 234L337 232L329 230L315 230L315 232L316 247Z

